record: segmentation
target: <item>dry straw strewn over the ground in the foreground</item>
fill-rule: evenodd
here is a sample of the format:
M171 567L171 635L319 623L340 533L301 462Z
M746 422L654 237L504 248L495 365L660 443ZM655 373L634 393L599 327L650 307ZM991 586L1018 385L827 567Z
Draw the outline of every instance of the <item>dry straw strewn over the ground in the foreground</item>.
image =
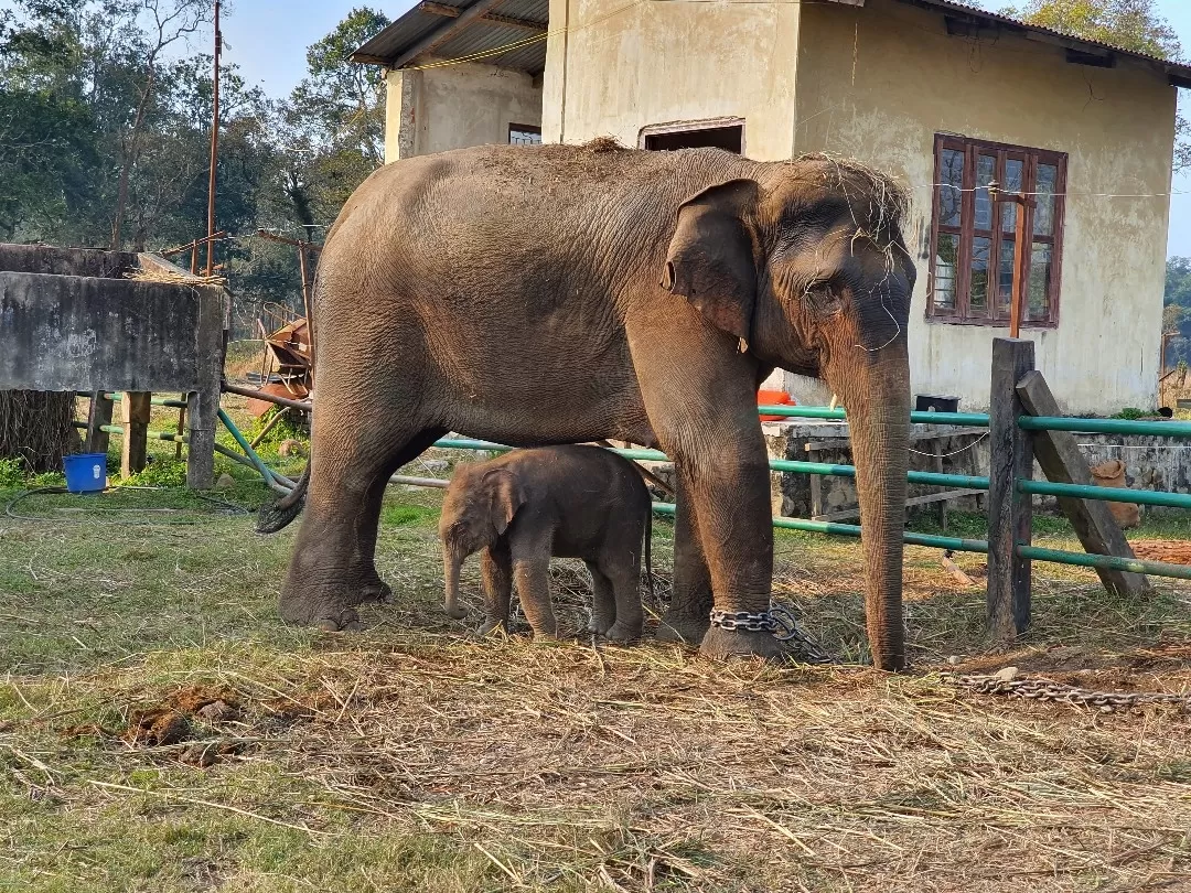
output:
M384 641L325 636L267 676L229 656L213 682L236 722L197 732L225 754L212 778L268 761L332 812L482 848L525 888L1018 893L1191 878L1191 718L1173 708L1103 714L656 644ZM112 697L133 720L185 700ZM194 747L144 753L193 761ZM237 804L335 845L301 804Z

